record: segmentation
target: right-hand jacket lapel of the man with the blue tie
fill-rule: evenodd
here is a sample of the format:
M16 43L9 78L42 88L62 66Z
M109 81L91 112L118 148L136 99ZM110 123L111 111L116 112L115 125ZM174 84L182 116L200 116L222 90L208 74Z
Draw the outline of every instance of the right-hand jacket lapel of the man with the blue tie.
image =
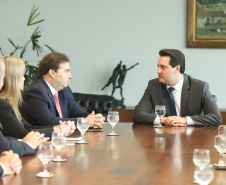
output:
M187 106L188 97L190 94L189 90L190 90L190 84L189 84L188 76L184 75L184 83L183 83L182 92L181 92L181 105L180 105L181 117L186 116L185 110Z

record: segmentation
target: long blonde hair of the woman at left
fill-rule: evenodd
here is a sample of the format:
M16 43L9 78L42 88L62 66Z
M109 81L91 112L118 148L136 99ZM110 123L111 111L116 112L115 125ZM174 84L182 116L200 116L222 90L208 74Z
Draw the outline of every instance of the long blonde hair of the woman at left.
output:
M19 106L23 103L19 80L25 73L25 62L14 56L4 56L6 72L0 98L6 100L13 108L17 119L22 120Z

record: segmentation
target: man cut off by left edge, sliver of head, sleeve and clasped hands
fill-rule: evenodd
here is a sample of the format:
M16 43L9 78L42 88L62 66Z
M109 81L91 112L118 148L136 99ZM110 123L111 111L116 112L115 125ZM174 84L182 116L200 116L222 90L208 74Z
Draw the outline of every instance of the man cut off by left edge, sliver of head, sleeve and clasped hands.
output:
M5 64L4 60L0 58L0 89L2 88L5 78ZM13 129L13 128L12 128ZM44 138L44 134L39 132L30 132L22 140L17 141L14 138L5 137L2 124L0 123L0 153L3 151L13 150L20 156L35 154L35 149L42 142L46 142L49 138Z

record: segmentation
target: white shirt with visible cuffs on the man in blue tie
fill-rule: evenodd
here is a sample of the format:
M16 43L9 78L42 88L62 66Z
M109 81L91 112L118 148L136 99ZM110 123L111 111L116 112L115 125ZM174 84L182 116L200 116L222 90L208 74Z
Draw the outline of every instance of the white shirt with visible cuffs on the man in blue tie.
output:
M179 117L181 117L180 107L181 107L181 93L182 93L183 83L184 83L184 76L182 75L181 80L176 85L174 85L174 86L167 85L166 86L167 90L170 87L174 87L172 94L173 94L174 101L175 101L177 116L179 116ZM187 125L195 125L195 122L191 119L190 116L186 116L186 118L187 118ZM158 117L156 117L154 120L154 124L159 124L159 123L160 123L160 120Z

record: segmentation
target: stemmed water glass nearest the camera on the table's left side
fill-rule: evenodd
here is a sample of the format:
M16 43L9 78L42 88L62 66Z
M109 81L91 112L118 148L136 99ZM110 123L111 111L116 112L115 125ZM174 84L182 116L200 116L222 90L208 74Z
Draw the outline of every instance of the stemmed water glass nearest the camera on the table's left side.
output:
M38 158L42 161L44 169L36 174L37 177L52 177L53 174L47 171L47 164L53 158L53 146L48 143L41 143L38 147Z

